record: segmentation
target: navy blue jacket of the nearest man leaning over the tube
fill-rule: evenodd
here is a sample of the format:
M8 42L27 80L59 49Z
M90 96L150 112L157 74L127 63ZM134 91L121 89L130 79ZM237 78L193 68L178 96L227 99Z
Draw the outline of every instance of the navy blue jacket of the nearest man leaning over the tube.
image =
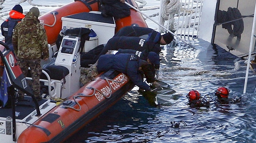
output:
M98 73L114 69L124 73L132 82L143 90L150 90L150 86L143 82L139 73L139 57L134 54L101 55L98 60Z

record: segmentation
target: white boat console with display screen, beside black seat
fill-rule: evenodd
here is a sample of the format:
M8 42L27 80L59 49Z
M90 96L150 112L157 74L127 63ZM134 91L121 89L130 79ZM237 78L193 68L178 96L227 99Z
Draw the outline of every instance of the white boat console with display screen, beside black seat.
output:
M72 95L80 88L80 37L64 36L61 42L59 53L56 57L54 65L61 65L69 70L69 74L61 81L56 80L56 84L63 84L55 86L55 89L61 92L61 97L65 98Z

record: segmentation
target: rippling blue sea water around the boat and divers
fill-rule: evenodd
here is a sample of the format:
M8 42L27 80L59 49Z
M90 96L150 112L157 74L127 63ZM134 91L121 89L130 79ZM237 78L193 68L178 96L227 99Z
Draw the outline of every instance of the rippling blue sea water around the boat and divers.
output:
M37 6L40 14L73 2L73 0L3 0L0 17L3 22L15 4L21 4L24 12ZM159 5L149 0L146 6ZM143 11L147 15L157 13ZM157 20L157 17L153 17ZM149 19L148 26L158 26ZM135 87L113 107L95 118L65 143L193 143L193 142L255 142L256 104L255 74L249 71L246 94L243 94L246 60L226 52L200 39L183 37L195 48L184 44L178 38L163 46L159 78L176 92L158 92L159 107L152 107L137 92ZM215 90L225 86L230 89L230 98L241 97L240 103L219 103ZM189 107L186 95L197 90L203 97L213 99L209 107ZM161 99L161 100L160 100ZM174 122L180 123L174 128Z

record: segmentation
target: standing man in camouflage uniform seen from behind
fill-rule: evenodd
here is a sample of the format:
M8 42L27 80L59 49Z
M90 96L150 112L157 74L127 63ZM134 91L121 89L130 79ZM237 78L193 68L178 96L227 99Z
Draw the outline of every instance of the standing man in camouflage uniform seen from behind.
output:
M32 90L37 100L40 96L40 75L42 67L40 57L46 61L49 57L46 31L38 19L39 9L30 8L24 19L18 23L13 32L13 48L16 58L19 61L22 73L26 76L28 67L32 77ZM24 98L24 93L19 93L19 99Z

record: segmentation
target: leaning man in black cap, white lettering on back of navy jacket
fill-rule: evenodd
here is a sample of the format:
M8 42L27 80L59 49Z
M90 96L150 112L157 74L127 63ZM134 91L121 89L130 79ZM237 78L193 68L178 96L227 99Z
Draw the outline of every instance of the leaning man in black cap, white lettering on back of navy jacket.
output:
M106 45L99 45L95 49L99 52L95 53L94 50L89 51L88 53L82 53L81 55L81 67L90 67L90 65L94 64L101 55L104 55L108 52L108 50L118 50L118 49L132 49L132 50L148 50L148 52L155 52L159 54L161 52L161 45L166 45L171 43L174 39L174 36L170 33L161 34L159 32L153 31L152 33L148 34L148 38L145 40L139 37L127 37L127 36L120 36L120 37L113 37ZM101 50L98 49L100 47ZM87 55L95 54L93 59L86 59L89 57ZM90 56L93 57L93 56ZM157 68L157 66L156 66ZM159 67L157 68L159 69Z

